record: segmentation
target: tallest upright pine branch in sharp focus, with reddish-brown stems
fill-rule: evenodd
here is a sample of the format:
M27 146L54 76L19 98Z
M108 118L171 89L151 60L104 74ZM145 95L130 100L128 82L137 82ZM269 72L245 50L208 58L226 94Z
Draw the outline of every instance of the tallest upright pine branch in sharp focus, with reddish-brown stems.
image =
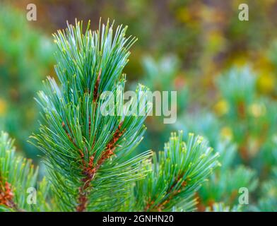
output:
M45 83L45 92L37 100L44 119L37 145L45 153L45 163L52 190L60 210L116 210L129 192L129 186L145 177L143 167L151 152L133 158L130 153L146 130L143 121L150 110L145 86L139 85L139 100L123 105L125 76L122 70L135 39L125 37L122 25L100 25L91 32L76 22L54 35L58 47L53 78ZM107 100L100 98L108 91L117 97L112 111L122 114L102 115ZM143 102L146 114L127 114ZM111 194L113 194L111 196ZM114 205L114 203L119 203Z

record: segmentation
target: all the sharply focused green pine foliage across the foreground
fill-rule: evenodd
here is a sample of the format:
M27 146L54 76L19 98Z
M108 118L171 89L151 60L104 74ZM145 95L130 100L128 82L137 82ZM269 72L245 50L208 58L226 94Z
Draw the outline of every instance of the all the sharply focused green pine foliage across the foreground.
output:
M47 181L37 184L37 169L15 157L6 133L1 135L1 208L32 210L24 194L37 186L41 207L35 210L193 210L195 192L218 165L217 154L199 136L190 134L185 143L179 132L157 155L146 151L133 157L151 110L144 85L136 88L138 100L131 99L131 105L124 105L118 91L124 90L122 71L136 39L126 37L122 25L115 32L109 22L94 32L89 26L83 31L76 22L54 35L59 83L48 78L38 93L42 120L32 138L44 154ZM106 91L117 97L116 114L102 114Z

